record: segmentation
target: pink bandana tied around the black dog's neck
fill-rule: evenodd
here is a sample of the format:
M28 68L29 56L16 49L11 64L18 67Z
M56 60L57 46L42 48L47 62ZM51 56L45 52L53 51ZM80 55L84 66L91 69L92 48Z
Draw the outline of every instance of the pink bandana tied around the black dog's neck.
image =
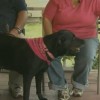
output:
M48 53L48 55L52 58L52 54L48 51L48 49L46 48L44 42L43 42L43 38L34 38L34 39L26 39L27 43L29 44L29 46L31 47L31 49L34 51L34 53L41 58L42 60L46 61L48 64L50 64L50 61L48 60L46 53Z

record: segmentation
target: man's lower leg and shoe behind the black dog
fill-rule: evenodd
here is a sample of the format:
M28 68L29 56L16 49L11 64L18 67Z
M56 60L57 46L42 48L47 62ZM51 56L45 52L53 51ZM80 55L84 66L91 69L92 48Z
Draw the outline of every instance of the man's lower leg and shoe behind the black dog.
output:
M23 96L23 78L22 75L11 71L9 72L9 91L15 98Z

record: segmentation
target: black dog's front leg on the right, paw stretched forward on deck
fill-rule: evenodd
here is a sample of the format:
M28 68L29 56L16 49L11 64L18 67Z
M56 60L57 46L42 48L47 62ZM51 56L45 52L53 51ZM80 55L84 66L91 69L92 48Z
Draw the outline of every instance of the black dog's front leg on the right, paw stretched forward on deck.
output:
M43 72L41 71L37 75L35 75L35 81L36 81L36 93L38 95L39 100L47 100L46 98L43 97L41 93L41 83L42 83L42 78L43 78Z

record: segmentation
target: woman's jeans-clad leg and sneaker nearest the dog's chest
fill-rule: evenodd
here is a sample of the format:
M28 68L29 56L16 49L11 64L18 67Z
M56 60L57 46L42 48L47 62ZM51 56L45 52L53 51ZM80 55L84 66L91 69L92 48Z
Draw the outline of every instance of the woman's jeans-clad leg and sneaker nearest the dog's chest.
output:
M69 89L62 68L61 57L51 62L47 72L50 79L49 88L58 90L58 100L68 100L70 98Z

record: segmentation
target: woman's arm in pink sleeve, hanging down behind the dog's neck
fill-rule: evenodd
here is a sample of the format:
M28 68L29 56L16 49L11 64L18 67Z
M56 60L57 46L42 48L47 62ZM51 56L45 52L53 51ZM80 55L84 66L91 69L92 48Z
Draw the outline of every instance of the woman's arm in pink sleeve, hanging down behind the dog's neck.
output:
M57 0L49 0L43 11L43 35L53 33L52 21L57 11Z

